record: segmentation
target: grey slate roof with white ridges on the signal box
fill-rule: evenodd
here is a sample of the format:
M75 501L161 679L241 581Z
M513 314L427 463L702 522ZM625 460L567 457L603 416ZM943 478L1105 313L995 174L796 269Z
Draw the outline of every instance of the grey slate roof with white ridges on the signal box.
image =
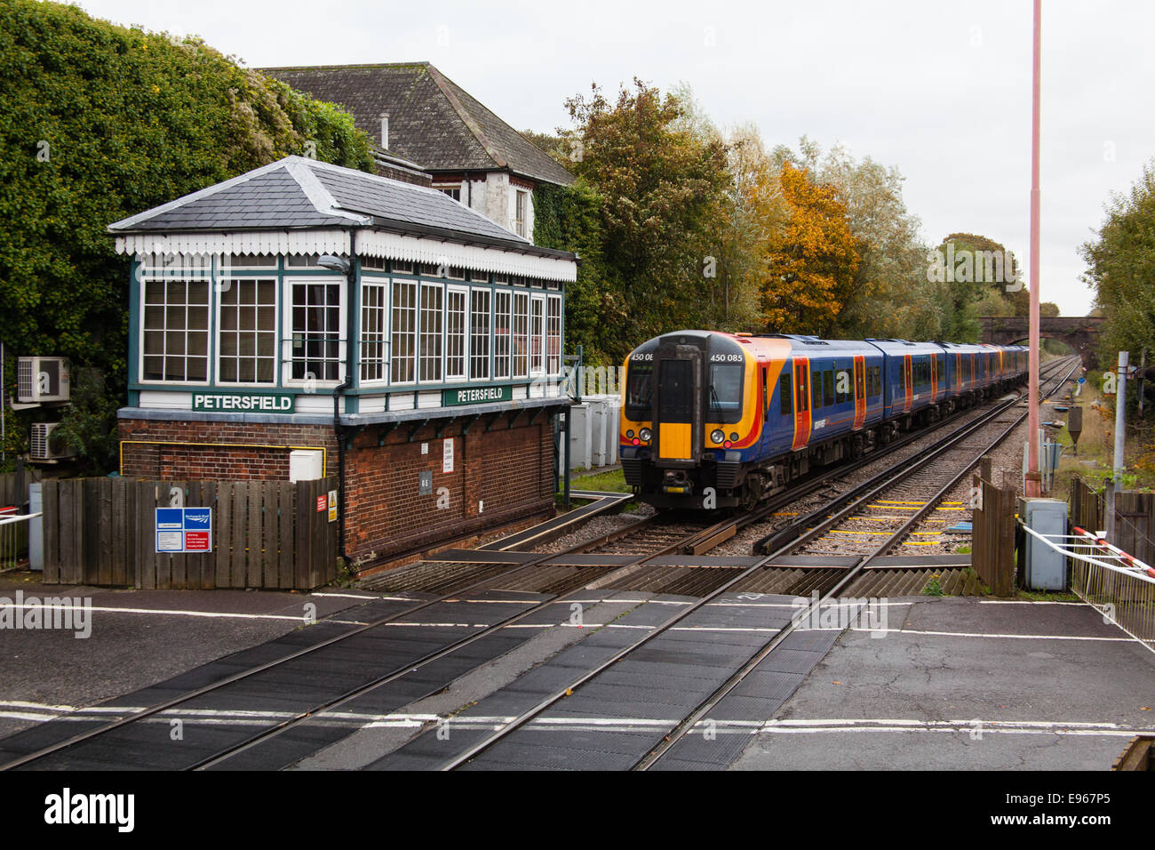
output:
M350 226L478 242L549 257L445 192L286 156L109 226L112 234L283 230Z

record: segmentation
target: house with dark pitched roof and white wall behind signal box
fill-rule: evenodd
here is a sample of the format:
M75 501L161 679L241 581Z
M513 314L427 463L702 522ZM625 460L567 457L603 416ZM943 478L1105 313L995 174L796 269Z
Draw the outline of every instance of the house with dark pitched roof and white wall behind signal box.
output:
M260 68L352 113L379 168L416 168L433 187L526 239L534 189L573 176L429 62ZM397 175L392 175L397 176Z

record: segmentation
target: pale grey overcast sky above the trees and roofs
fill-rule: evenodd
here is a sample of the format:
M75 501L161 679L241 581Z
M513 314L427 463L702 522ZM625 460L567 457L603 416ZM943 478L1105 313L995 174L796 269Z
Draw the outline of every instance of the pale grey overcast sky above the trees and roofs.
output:
M684 81L723 128L897 167L927 242L982 234L1027 265L1029 0L77 5L255 67L429 60L517 130L568 126L566 97L595 81ZM1090 305L1079 245L1155 156L1153 34L1146 0L1043 2L1041 291L1064 316Z

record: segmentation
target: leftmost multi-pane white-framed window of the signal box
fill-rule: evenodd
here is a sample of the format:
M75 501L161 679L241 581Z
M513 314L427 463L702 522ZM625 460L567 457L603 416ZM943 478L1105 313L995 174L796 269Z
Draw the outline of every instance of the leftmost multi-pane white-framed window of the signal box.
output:
M209 283L144 283L142 380L209 379Z

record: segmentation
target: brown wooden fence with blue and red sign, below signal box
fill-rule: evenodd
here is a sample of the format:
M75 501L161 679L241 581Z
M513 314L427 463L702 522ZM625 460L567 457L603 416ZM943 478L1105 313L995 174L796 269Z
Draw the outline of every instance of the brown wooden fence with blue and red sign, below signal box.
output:
M336 576L337 524L316 481L46 480L44 582L141 589L312 590ZM156 509L213 509L213 552L156 550ZM318 510L325 498L323 510Z

